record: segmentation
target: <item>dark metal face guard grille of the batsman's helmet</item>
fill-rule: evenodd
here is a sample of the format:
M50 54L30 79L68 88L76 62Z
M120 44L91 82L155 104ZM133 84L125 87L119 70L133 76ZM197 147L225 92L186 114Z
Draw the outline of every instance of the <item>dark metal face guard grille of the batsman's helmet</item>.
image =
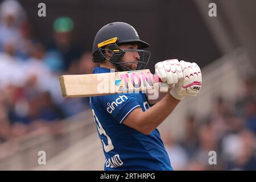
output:
M116 64L118 71L126 71L127 69L131 70L125 65L127 63L136 63L136 70L144 69L148 64L148 60L150 59L151 55L149 51L142 49L121 49L116 43L110 43L104 48L100 47L99 51L101 56L104 57L104 60L108 60L110 63ZM137 61L124 60L121 62L126 52L137 52L139 59Z

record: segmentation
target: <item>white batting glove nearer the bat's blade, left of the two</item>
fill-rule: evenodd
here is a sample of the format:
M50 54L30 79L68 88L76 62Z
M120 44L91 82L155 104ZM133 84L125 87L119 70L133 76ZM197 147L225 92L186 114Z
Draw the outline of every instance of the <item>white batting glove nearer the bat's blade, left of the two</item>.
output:
M161 89L168 90L169 85L177 84L177 82L183 78L183 73L181 72L181 66L177 59L170 59L170 60L160 61L156 63L155 73L163 81L162 85L160 84L160 92L162 92ZM167 84L164 85L165 82L168 85Z

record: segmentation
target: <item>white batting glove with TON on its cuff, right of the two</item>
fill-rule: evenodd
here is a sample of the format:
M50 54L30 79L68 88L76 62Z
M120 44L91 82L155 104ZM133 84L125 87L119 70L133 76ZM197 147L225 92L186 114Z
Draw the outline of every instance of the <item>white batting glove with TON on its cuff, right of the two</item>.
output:
M197 96L202 84L202 75L196 63L180 61L183 78L170 91L172 97L182 100L186 96Z

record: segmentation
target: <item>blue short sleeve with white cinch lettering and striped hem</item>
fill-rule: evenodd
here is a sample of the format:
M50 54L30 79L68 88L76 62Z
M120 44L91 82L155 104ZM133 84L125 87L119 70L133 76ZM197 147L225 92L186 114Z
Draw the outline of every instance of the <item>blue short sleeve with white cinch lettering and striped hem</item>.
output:
M119 123L122 123L134 109L141 107L133 94L129 93L100 96L98 100L104 107L102 109Z

